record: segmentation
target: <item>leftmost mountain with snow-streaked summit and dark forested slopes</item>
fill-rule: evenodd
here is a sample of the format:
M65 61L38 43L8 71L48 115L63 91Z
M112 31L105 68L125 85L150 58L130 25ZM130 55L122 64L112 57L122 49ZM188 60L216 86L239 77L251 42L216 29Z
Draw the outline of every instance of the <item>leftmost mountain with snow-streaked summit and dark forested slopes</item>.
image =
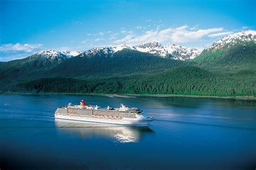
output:
M43 77L46 71L77 54L80 53L45 50L24 59L2 62L0 63L0 87Z

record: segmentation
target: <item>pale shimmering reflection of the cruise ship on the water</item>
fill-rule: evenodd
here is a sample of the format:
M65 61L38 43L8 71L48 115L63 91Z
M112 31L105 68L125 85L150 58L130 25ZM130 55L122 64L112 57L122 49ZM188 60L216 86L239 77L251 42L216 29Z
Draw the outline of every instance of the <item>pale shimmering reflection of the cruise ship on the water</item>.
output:
M55 119L55 125L59 132L68 133L70 136L78 134L82 139L104 137L119 143L137 143L145 133L153 133L153 130L147 126L113 125L65 119Z

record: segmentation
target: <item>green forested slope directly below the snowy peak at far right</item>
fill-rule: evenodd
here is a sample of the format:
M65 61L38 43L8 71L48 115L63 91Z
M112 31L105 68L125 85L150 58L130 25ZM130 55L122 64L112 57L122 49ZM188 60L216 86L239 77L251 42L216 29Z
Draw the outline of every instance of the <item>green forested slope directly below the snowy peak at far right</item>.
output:
M217 51L205 50L194 61L199 67L218 72L255 71L256 43L242 42Z

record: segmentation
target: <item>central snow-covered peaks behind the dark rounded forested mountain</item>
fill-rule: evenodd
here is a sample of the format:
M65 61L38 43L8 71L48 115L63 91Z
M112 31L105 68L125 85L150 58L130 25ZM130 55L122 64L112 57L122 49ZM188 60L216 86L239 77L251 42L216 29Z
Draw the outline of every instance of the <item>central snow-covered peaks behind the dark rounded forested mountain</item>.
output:
M196 48L182 47L176 44L169 44L163 46L159 42L147 42L136 46L118 45L110 47L92 48L80 54L79 56L111 56L113 53L116 53L123 49L130 49L143 53L150 53L153 55L161 56L163 58L172 58L175 60L194 59L201 52L199 49Z

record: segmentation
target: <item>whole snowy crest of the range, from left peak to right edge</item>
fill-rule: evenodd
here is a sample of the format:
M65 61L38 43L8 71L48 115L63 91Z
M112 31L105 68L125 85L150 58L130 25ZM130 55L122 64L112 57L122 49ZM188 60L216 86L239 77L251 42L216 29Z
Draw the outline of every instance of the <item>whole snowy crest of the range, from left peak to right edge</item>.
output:
M210 47L205 48L204 50L207 52L208 50L217 50L222 48L226 45L231 46L238 42L245 42L245 41L256 41L256 31L243 31L231 34L220 40L214 42ZM68 59L72 56L112 56L113 53L121 51L122 49L131 49L134 51L150 53L154 55L161 56L163 58L172 58L175 60L187 60L187 59L194 59L196 58L201 52L201 49L197 48L190 48L190 47L183 47L176 44L169 44L166 46L161 45L159 42L146 42L136 46L130 45L117 45L117 46L109 46L109 47L97 47L92 48L84 53L80 52L60 52L60 51L53 51L53 50L46 50L36 53L34 56L41 56L48 59Z

